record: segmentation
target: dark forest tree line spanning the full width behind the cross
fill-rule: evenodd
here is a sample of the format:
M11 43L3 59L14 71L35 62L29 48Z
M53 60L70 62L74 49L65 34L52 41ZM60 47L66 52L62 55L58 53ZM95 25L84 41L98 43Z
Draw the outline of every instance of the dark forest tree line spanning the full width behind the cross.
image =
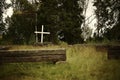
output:
M81 25L85 22L82 15L86 2L89 0L11 0L11 4L0 1L0 44L34 44L35 33L44 31L51 34L44 36L45 41L58 44L64 41L68 44L81 44L89 41L120 42L120 1L94 0L96 7L97 28L93 37L84 41ZM13 8L13 15L3 21L3 12L8 7ZM6 28L7 27L7 28ZM86 27L84 25L83 27ZM87 34L84 36L91 36ZM38 35L40 38L40 35Z

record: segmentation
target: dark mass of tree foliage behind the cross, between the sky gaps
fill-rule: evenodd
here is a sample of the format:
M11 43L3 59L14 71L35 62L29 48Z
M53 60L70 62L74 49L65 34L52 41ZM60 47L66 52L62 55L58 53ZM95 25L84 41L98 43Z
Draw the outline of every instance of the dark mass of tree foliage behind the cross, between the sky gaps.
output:
M49 31L45 37L52 43L59 39L69 44L82 43L80 0L11 0L14 14L9 20L8 37L13 43L29 43L35 26ZM81 0L83 1L83 0ZM36 16L37 14L37 16Z

